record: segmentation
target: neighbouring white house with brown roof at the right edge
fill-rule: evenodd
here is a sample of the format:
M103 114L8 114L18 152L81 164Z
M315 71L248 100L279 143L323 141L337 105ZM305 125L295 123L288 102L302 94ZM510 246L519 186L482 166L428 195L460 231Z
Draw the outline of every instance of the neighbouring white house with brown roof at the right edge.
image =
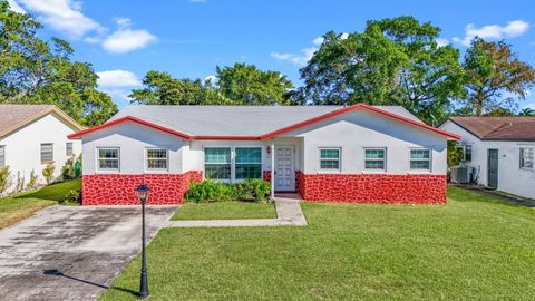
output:
M450 117L440 128L461 137L477 184L535 198L535 117Z

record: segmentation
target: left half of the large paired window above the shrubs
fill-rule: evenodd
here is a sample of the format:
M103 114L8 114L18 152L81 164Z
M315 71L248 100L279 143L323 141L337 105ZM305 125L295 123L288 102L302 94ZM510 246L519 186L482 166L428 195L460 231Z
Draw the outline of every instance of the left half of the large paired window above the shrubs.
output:
M231 148L204 148L204 173L206 178L231 179Z

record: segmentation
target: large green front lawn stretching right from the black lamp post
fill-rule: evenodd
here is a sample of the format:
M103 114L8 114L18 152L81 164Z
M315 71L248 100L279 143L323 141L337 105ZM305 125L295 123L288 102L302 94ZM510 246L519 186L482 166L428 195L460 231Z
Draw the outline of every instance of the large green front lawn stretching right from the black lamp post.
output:
M307 227L164 229L152 300L533 300L535 210L448 188L447 205L302 204ZM135 300L139 258L103 300Z

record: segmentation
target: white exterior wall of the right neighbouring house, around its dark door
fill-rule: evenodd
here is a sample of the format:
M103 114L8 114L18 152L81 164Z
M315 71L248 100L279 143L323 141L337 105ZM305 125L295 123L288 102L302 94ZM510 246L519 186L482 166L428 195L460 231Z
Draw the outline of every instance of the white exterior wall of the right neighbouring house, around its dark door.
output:
M535 148L535 143L480 140L450 120L440 128L460 135L461 143L471 144L471 162L465 164L476 168L477 184L488 185L487 152L489 148L496 148L498 149L498 191L535 198L535 171L519 168L519 148Z

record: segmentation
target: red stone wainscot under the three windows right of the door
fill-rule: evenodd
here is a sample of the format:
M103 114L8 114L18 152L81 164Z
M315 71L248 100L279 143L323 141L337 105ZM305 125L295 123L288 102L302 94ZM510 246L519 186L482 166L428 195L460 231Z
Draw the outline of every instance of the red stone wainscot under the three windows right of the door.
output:
M303 174L304 201L341 203L445 204L446 175Z

